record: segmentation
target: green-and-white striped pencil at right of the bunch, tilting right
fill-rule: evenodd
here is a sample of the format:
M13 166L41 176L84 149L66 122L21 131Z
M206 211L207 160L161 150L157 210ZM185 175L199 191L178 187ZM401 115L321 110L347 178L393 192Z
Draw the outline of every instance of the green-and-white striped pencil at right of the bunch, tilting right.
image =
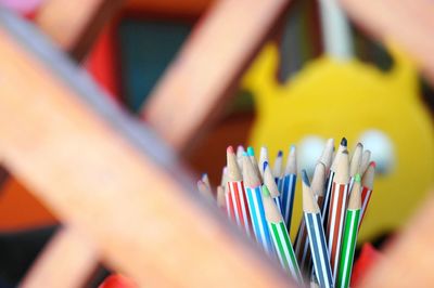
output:
M344 237L342 241L341 261L336 279L336 287L347 288L352 278L354 250L356 249L357 231L360 220L360 174L355 175L355 181L349 196L348 208L345 215Z

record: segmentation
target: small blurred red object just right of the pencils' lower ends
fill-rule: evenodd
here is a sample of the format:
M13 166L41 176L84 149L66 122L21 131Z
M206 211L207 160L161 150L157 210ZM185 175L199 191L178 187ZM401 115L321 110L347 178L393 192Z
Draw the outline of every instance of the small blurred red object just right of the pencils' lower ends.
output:
M365 275L369 273L369 270L382 258L383 254L376 250L371 244L365 244L361 248L359 258L353 267L352 284L350 287L357 287Z

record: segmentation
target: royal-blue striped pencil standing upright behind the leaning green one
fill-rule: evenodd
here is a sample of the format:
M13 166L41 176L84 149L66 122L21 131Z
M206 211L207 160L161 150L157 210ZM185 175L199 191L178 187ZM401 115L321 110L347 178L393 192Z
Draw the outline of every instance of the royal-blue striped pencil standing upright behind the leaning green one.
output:
M295 146L292 145L288 155L286 168L284 171L283 182L281 185L281 204L283 219L291 232L292 210L294 206L295 184L297 181L297 160Z

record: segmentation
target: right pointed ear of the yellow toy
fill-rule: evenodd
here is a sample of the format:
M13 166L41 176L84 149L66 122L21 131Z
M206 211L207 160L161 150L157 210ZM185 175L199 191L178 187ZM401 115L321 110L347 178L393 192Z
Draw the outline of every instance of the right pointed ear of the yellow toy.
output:
M392 68L392 81L409 96L419 95L418 69L414 61L396 43L387 41L388 52L395 64Z

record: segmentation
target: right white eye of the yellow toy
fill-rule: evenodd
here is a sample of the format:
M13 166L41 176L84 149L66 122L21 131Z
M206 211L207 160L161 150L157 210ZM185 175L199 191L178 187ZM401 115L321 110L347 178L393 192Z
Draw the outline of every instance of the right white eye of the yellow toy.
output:
M359 142L363 149L371 150L371 160L375 161L375 172L390 173L395 166L395 148L392 140L383 131L371 129L365 131Z

